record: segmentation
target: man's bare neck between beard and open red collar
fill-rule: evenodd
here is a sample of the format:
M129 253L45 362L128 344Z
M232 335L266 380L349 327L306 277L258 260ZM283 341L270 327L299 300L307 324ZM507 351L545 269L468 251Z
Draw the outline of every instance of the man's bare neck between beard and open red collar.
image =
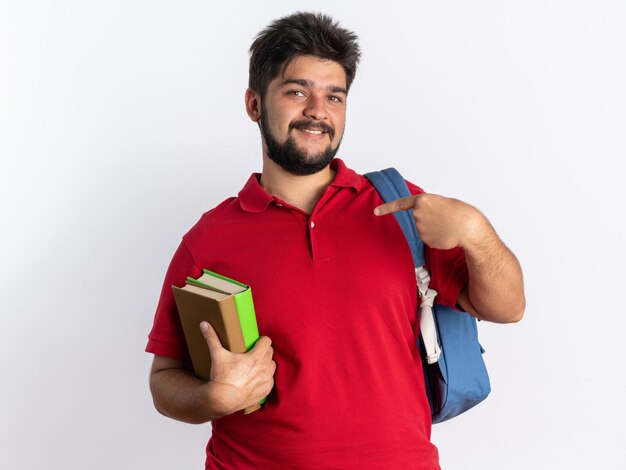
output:
M267 155L263 155L263 173L261 174L263 189L307 214L313 212L326 186L334 178L335 172L330 169L330 165L313 175L292 175L270 160Z

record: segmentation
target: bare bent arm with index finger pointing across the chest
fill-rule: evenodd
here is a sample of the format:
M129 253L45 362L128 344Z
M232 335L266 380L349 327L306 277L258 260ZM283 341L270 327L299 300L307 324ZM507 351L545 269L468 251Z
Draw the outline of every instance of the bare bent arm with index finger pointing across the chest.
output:
M376 208L376 215L411 210L422 241L441 250L463 248L468 285L457 303L481 320L521 320L526 305L522 270L515 255L498 237L487 218L457 199L417 194Z

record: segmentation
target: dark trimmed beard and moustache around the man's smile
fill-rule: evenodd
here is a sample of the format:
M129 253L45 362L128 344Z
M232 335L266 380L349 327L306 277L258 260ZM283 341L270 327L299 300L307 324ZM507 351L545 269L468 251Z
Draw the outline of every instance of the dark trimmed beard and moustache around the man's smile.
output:
M335 136L334 129L325 124L315 123L314 121L292 122L289 124L289 137L287 137L287 140L281 144L274 139L268 126L265 125L266 122L267 115L263 110L261 111L259 127L261 129L263 139L265 140L265 145L267 146L267 156L283 170L291 173L292 175L306 176L322 171L330 164L333 158L335 158L335 155L339 150L341 141L339 141L339 144L337 144L337 147L335 148L332 148L331 144L328 144L328 147L326 147L326 150L323 152L320 152L317 155L308 156L298 148L296 140L293 135L291 135L291 131L293 129L303 127L319 128L328 133L332 142Z

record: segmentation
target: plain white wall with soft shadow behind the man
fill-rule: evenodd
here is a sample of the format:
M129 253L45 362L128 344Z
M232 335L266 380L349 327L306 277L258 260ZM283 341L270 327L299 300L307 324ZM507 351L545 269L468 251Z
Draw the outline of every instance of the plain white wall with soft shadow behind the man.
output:
M443 468L626 468L626 6L601 0L0 2L0 467L203 468L146 335L182 234L260 168L252 38L312 6L361 37L341 157L473 203L524 268Z

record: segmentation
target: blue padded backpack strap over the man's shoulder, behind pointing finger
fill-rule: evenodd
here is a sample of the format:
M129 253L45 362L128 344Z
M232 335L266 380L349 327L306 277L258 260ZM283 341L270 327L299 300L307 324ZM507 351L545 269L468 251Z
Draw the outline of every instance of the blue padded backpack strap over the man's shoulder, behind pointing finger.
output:
M376 188L378 194L385 202L395 201L402 197L411 196L411 191L406 185L404 178L395 168L387 168L381 171L372 171L364 175ZM424 266L424 243L417 233L415 222L409 211L399 211L393 214L404 232L415 267Z

